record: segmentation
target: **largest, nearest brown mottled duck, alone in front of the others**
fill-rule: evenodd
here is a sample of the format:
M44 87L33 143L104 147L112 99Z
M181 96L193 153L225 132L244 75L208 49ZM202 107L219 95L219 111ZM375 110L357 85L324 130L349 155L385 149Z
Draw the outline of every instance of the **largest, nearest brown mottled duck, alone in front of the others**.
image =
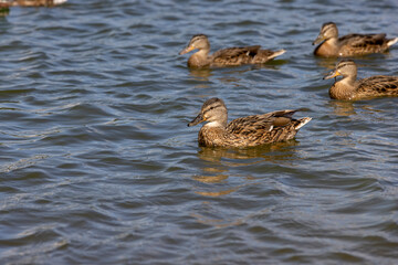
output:
M228 109L222 99L207 99L199 115L188 127L207 121L199 130L202 147L255 147L293 139L298 129L312 118L293 119L297 110L276 110L233 119L228 124Z

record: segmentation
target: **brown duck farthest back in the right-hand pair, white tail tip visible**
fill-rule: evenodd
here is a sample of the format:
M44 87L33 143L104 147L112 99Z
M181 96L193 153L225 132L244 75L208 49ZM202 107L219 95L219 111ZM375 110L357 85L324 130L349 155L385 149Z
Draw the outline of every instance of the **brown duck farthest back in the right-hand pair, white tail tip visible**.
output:
M348 34L338 38L337 25L334 22L324 23L313 45L320 44L314 54L323 57L349 57L370 53L386 52L398 38L387 39L379 34Z

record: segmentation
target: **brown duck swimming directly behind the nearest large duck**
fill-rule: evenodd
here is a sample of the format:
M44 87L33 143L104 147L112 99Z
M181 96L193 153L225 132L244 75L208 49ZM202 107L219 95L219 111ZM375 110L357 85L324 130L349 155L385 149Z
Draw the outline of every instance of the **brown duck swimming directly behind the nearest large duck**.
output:
M180 55L199 50L188 60L188 67L222 67L239 66L243 64L263 64L279 55L285 53L285 50L270 51L261 50L261 45L228 47L210 53L210 42L207 35L196 34L189 41L189 44L179 53Z

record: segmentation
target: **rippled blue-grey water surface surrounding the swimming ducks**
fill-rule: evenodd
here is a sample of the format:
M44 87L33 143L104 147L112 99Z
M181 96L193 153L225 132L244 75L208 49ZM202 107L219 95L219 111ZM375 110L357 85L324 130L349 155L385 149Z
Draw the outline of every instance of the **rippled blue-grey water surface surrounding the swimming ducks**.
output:
M398 98L332 100L314 57L324 22L398 36L394 0L101 1L0 18L1 264L396 264ZM190 71L261 44L265 65ZM398 75L398 45L356 59ZM301 108L295 140L197 145L187 127L222 98L230 119Z

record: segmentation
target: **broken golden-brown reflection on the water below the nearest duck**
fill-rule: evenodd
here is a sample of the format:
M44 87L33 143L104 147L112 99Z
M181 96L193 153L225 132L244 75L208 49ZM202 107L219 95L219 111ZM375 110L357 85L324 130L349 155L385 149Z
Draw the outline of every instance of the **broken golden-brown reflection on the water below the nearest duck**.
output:
M198 223L216 227L235 226L245 222L249 215L234 214L233 212L218 206L211 198L234 197L241 188L256 184L261 179L251 176L249 168L253 165L264 163L294 163L301 160L300 152L294 151L296 140L276 142L269 146L252 148L210 148L200 147L198 157L203 162L202 174L193 176L196 181L193 192L203 197L202 203L195 208L191 216ZM231 173L230 169L240 167L248 168L245 173ZM268 211L268 208L264 208Z

